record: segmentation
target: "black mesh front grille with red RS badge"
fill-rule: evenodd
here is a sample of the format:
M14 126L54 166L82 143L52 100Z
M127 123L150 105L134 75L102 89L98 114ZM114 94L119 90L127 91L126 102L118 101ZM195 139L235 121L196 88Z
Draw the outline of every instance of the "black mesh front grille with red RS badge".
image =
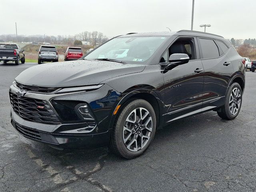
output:
M43 100L19 97L10 92L10 101L14 112L24 120L44 124L60 124L56 114Z

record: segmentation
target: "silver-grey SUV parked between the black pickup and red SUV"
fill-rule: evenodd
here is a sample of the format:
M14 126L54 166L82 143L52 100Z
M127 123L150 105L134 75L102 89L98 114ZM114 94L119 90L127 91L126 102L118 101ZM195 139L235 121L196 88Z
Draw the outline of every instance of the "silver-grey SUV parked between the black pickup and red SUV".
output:
M41 45L38 51L38 64L42 62L58 62L58 51L55 46Z

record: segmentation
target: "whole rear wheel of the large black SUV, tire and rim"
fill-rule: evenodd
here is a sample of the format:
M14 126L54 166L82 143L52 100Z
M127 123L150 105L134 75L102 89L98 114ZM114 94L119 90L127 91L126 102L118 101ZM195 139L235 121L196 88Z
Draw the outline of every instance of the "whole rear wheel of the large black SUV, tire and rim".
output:
M238 83L233 83L229 88L225 104L217 111L222 119L232 120L240 112L242 105L242 89Z

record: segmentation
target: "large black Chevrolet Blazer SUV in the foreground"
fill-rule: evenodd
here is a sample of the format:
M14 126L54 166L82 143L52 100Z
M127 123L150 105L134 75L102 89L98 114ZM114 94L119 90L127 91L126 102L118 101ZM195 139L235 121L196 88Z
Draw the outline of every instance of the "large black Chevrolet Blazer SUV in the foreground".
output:
M148 148L156 128L174 120L209 110L236 118L244 63L228 40L214 34L118 36L80 60L18 75L10 86L12 125L58 148L109 144L134 158Z

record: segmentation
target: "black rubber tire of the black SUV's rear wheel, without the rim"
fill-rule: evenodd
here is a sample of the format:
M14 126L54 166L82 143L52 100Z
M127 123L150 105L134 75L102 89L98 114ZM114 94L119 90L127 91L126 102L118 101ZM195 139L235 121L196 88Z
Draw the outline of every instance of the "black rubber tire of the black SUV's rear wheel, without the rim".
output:
M231 98L231 94L232 94L232 91L235 89L235 88L238 88L240 90L240 106L236 112L236 114L232 114L230 112L230 98ZM231 103L232 104L232 103ZM232 120L234 118L236 118L236 116L238 116L239 112L240 112L240 109L241 109L241 106L242 106L242 89L240 87L240 85L238 83L233 83L229 88L228 88L228 91L227 91L227 95L226 95L226 98L225 98L225 104L220 108L219 111L217 111L218 113L218 116L222 119L226 119L226 120Z

